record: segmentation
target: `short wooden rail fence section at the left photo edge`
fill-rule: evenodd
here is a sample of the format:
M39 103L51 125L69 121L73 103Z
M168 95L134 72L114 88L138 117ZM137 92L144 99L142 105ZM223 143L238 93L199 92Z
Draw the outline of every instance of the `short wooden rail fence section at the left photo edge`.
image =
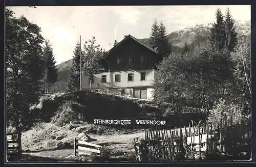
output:
M20 156L22 154L21 132L7 133L7 156Z

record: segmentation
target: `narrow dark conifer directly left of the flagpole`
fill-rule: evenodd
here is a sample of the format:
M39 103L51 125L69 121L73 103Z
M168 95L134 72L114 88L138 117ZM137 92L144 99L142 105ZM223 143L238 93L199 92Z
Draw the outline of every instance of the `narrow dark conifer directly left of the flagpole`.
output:
M83 53L81 52L81 57ZM80 89L80 43L77 42L74 50L72 67L69 72L67 91L77 91Z

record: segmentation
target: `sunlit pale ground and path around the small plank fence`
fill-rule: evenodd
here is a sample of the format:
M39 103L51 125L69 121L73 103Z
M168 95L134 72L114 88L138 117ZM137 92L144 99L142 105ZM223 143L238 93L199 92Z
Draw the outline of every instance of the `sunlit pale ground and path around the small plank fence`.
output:
M65 134L65 138L55 141L51 135L56 133ZM122 134L125 133L125 134ZM73 144L74 137L79 134L76 131L67 130L63 127L57 127L50 123L44 123L42 127L37 127L23 133L23 150L27 150L24 154L45 158L54 158L60 161L77 161L81 157L74 156L74 149L58 149L54 144L58 142L70 142ZM111 150L112 158L127 159L133 154L133 139L143 137L144 132L141 130L118 130L113 134L93 134L88 133L91 138L97 139L92 142L105 146ZM53 146L51 146L53 143Z

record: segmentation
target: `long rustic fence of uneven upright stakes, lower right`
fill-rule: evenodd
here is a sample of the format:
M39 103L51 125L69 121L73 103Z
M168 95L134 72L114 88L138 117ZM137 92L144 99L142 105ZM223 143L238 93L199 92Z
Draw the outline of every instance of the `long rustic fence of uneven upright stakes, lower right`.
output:
M237 124L222 119L171 130L145 129L144 138L134 138L136 160L248 160L251 154L250 120ZM247 159L246 159L247 158Z

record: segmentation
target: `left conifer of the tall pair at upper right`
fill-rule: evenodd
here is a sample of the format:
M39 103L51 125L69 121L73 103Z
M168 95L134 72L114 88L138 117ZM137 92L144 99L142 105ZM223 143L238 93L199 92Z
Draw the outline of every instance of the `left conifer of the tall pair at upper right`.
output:
M223 49L225 47L225 24L223 20L223 15L220 9L216 11L216 23L212 26L210 30L210 42L217 49Z

